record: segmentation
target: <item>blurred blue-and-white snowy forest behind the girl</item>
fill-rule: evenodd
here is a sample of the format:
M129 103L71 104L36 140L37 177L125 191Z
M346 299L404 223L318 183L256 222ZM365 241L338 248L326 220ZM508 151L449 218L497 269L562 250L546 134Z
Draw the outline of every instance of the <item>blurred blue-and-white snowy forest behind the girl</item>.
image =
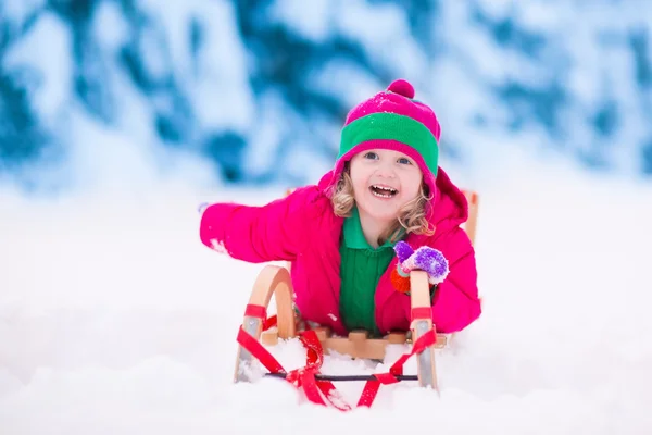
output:
M184 156L225 184L314 182L351 107L402 77L465 173L518 149L650 179L651 29L644 0L2 0L0 178Z

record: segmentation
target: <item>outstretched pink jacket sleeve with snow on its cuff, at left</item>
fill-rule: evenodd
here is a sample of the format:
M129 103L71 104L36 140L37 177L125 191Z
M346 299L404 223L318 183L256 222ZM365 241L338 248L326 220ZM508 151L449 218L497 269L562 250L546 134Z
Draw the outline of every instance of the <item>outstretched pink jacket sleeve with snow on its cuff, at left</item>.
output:
M201 217L201 241L251 263L292 261L309 240L310 198L314 190L303 187L261 207L209 206Z

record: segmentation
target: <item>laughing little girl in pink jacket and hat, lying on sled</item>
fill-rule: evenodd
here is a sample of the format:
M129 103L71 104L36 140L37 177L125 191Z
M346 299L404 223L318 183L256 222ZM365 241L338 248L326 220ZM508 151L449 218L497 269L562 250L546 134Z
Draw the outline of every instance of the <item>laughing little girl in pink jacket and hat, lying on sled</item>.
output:
M290 261L305 321L338 335L409 331L409 273L428 273L438 332L480 315L464 195L438 167L440 126L393 82L349 112L335 169L263 207L215 203L201 241L248 262ZM396 254L394 254L396 253Z

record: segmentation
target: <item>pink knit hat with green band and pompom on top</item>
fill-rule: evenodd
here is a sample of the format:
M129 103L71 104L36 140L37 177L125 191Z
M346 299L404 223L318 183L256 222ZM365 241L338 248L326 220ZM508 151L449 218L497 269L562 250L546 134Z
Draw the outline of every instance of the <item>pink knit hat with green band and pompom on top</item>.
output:
M334 175L339 176L344 163L359 152L390 149L412 158L434 191L440 134L435 112L414 99L414 87L408 80L394 80L347 115Z

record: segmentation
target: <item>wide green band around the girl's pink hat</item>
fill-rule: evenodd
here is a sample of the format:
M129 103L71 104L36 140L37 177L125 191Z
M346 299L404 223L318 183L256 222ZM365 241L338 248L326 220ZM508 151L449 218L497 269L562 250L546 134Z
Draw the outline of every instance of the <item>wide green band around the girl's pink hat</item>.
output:
M356 145L375 139L397 140L414 148L437 174L439 147L432 133L421 122L396 113L372 113L342 128L338 160Z

